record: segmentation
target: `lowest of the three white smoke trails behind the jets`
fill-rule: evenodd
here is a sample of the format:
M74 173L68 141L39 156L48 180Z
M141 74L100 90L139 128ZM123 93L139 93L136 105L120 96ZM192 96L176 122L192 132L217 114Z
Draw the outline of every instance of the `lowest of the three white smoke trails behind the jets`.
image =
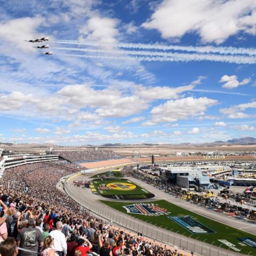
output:
M216 61L227 62L237 64L255 64L256 59L251 57L238 57L238 56L226 56L226 55L210 55L210 54L185 54L185 53L172 53L166 57L154 57L154 56L114 56L114 55L81 55L81 54L59 54L70 57L79 57L86 59L112 59L112 60L139 60L139 61L161 61L161 62L173 62L173 61Z

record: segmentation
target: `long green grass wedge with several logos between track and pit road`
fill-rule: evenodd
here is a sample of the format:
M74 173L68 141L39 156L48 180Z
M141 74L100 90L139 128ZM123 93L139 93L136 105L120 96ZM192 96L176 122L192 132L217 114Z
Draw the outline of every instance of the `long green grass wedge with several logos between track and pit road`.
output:
M222 244L221 247L229 250L233 250L232 247L229 248L227 245L218 241L221 239L226 239L228 242L234 244L236 249L241 250L239 253L247 255L249 252L251 252L250 255L256 255L256 236L255 235L224 225L218 221L211 220L209 218L203 217L202 215L198 215L194 212L190 212L186 209L183 209L165 200L159 200L159 201L147 202L147 203L143 203L143 202L142 203L134 203L134 202L119 203L119 202L109 202L109 201L101 201L101 202L107 204L110 207L113 207L114 209L120 212L129 214L134 218L138 218L140 220L149 222L158 227L165 228L166 230L172 230L172 232L178 231L179 234L183 234L187 237L190 236L191 238L194 238L194 239L197 238L197 240L205 241L205 243L211 244L214 242L214 245L217 245L217 246L220 246ZM146 206L143 206L143 204ZM147 205L151 205L151 204L157 205L161 209L165 209L165 210L161 210L161 209L159 210L159 208L156 207L156 211L159 211L159 212L162 211L163 214L162 215L139 214L140 211L138 211L138 209L141 209L141 206L146 207L146 209L148 209ZM127 207L128 205L130 206ZM135 205L135 207L133 205ZM136 207L136 205L138 206ZM127 209L130 209L130 211L137 212L137 213L131 213L131 212L127 213L127 210L123 206L126 206ZM154 209L154 206L150 206L150 207L153 207ZM154 210L153 210L153 214L154 214ZM149 209L149 213L150 212L151 210ZM174 217L174 219L172 219L172 217ZM187 228L185 228L185 226ZM198 230L198 226L199 226L199 230ZM245 226L246 226L246 223L245 223ZM194 227L194 228L191 228L191 227ZM202 229L204 233L202 233ZM242 241L240 241L238 238L249 238L250 241L252 241L251 246L249 244L245 244L245 242L241 244ZM255 247L253 247L253 245Z

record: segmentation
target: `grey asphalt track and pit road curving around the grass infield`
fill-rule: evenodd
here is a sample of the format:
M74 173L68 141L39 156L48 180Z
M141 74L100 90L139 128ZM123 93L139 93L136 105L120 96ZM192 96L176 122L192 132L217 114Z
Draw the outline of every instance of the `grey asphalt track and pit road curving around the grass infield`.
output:
M196 252L198 255L211 255L211 256L238 255L238 253L235 253L233 251L223 250L214 245L209 245L206 243L195 241L195 239L183 237L182 235L172 233L171 231L167 231L162 228L157 228L153 225L150 225L149 223L145 224L145 222L132 218L129 215L120 213L112 209L111 207L108 207L105 204L102 204L101 202L99 202L99 200L100 199L105 200L106 198L102 198L99 195L93 195L90 189L74 186L73 180L89 180L89 177L91 176L92 173L93 174L102 173L102 171L109 171L109 170L115 170L115 169L113 169L112 167L112 168L101 168L99 170L93 170L93 171L87 170L86 172L90 173L90 175L86 175L86 174L76 175L74 178L70 178L67 182L66 188L69 191L70 195L73 196L74 199L76 199L78 202L80 202L85 207L87 207L87 209L90 209L92 212L98 213L98 215L100 215L105 219L113 220L113 222L119 226L126 227L127 229L131 229L131 230L139 231L140 233L143 233L148 237L156 239L159 242L183 247L188 251ZM139 184L143 188L149 191L152 191L152 193L156 195L155 198L153 199L156 199L156 200L165 199L166 201L169 201L173 204L177 204L197 214L204 215L205 217L214 219L221 223L225 223L229 226L242 229L252 234L256 234L255 225L253 224L250 224L241 220L235 220L232 217L227 217L220 213L208 211L196 205L190 204L188 202L185 202L178 198L170 196L164 193L163 191L158 190L157 188L151 185L148 185L143 181L136 180L133 178L129 178L129 179ZM153 199L151 198L151 199L148 199L147 201L153 201ZM113 199L111 199L111 201L113 201Z

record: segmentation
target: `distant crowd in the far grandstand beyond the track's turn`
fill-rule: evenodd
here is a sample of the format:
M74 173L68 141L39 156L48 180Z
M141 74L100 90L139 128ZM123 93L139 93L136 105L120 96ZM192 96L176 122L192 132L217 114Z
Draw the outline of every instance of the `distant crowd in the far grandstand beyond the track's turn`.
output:
M84 151L54 151L54 154L59 154L62 158L72 163L78 162L94 162L110 159L119 159L121 156L117 155L111 150L84 150Z

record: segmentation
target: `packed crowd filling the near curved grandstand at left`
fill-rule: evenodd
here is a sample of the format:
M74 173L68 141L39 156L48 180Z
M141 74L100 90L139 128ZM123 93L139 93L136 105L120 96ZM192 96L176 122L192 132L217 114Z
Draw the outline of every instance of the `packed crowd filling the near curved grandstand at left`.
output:
M86 212L56 188L60 178L79 167L65 161L6 169L1 180L0 254L21 256L185 256L149 242ZM12 245L12 246L11 246ZM15 245L15 246L14 246ZM15 247L13 249L13 247ZM189 254L190 255L190 254ZM188 256L188 255L186 255Z

